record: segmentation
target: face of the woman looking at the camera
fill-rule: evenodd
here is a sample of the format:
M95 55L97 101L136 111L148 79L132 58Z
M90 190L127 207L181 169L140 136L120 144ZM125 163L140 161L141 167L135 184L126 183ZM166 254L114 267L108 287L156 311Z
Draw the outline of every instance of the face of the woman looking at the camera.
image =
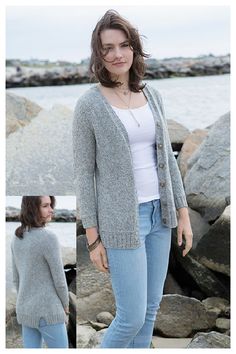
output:
M105 68L111 77L124 76L133 63L133 50L129 46L126 34L118 29L106 29L100 34Z

